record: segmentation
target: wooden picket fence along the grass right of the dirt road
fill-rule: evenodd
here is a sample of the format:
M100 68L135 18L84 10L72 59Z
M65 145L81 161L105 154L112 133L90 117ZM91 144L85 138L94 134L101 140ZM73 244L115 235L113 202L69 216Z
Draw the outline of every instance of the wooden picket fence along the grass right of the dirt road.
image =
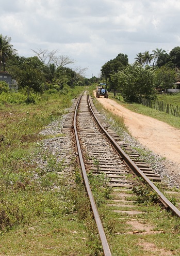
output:
M180 107L176 106L174 107L172 104L166 104L163 101L151 101L147 99L140 99L140 104L143 106L149 107L151 109L156 109L161 112L166 112L170 115L174 115L177 117L180 117Z

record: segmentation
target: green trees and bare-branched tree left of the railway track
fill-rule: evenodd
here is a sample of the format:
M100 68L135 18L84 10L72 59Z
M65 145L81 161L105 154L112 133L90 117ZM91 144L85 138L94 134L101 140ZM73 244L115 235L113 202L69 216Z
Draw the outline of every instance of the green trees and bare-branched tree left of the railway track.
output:
M17 81L21 92L27 94L55 93L66 86L89 85L92 81L84 77L87 68L68 67L75 61L68 55L58 54L58 50L32 50L34 56L19 56L11 44L11 37L0 35L0 71L9 72ZM93 78L95 80L95 78ZM6 92L8 85L1 82L0 93Z

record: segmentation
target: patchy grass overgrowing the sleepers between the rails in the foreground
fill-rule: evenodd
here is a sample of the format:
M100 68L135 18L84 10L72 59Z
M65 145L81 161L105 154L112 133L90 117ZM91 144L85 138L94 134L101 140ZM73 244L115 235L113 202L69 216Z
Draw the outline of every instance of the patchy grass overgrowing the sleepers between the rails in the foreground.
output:
M179 255L180 221L171 213L150 202L139 204L136 208L136 210L144 212L142 215L128 216L123 213L114 213L112 212L113 209L129 210L129 208L116 206L105 208L103 204L99 207L113 256L158 256L162 249L169 251L169 253L173 252L173 255ZM135 229L131 224L128 224L128 221L145 224L145 227L151 227L152 232L148 234L143 228ZM138 232L133 234L135 230ZM152 243L154 250L146 251L143 249L142 241Z

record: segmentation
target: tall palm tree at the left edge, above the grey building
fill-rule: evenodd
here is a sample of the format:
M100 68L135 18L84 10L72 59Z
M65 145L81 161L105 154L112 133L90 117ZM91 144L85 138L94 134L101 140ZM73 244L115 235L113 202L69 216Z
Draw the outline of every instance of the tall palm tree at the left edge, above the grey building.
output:
M5 71L6 59L10 58L17 50L13 49L10 44L11 37L0 35L0 71L3 64L3 71Z

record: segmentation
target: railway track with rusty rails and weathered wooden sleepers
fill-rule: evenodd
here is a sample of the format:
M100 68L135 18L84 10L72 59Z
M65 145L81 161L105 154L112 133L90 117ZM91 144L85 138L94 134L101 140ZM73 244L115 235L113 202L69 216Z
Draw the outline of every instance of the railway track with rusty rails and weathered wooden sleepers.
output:
M65 131L72 128L72 113L73 110L70 112L67 122L63 126L63 130ZM79 100L78 107L76 107L73 126L77 139L78 160L81 164L84 183L99 230L104 255L110 256L111 252L100 216L97 212L95 200L93 199L87 173L92 173L93 175L103 174L105 184L112 189L111 200L107 200L106 206L114 214L120 214L121 216L144 214L144 209L143 211L140 210L140 207L136 209L132 200L134 178L139 176L156 191L164 207L171 209L173 214L180 217L179 209L154 185L154 182L161 182L160 176L154 173L150 165L144 162L110 128L101 114L95 109L92 99L90 98L88 100L86 92ZM176 192L168 192L176 195Z

